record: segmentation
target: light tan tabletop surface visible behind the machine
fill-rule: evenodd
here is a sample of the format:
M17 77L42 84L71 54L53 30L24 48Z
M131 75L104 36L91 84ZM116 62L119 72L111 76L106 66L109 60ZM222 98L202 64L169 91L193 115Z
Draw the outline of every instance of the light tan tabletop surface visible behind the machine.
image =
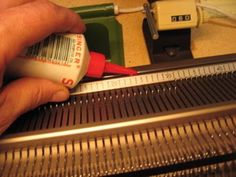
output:
M142 6L145 0L51 0L65 6L75 7L90 4L113 2L120 7ZM125 65L139 66L149 64L149 57L142 34L142 20L144 14L122 14L117 20L123 27ZM232 25L233 22L223 19L219 22ZM234 24L236 26L236 22ZM236 27L220 25L218 23L205 23L199 28L192 29L191 41L194 58L236 53Z

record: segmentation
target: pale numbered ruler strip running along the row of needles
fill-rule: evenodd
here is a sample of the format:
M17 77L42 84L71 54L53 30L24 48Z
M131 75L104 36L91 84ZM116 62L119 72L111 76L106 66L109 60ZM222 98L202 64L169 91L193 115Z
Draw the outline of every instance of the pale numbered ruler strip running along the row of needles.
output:
M194 77L203 77L215 74L224 74L236 71L236 62L220 63L186 69L177 69L163 72L148 73L136 76L113 78L109 80L94 81L78 84L71 91L71 95L92 93L105 90L162 83Z

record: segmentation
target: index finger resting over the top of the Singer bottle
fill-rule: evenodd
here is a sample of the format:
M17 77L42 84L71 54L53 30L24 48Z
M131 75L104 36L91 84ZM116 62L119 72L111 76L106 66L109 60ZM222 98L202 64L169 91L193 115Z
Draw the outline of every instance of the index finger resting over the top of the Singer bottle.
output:
M34 1L5 10L0 13L0 22L0 59L5 63L51 33L85 30L77 14L48 1Z

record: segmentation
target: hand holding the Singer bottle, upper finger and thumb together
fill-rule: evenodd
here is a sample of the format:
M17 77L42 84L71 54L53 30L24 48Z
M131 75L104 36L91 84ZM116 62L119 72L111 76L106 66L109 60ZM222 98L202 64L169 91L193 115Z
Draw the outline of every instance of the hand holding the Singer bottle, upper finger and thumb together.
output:
M25 48L55 32L84 32L80 17L47 0L7 0L0 4L0 134L21 114L47 102L64 101L68 90L38 78L3 86L6 65Z

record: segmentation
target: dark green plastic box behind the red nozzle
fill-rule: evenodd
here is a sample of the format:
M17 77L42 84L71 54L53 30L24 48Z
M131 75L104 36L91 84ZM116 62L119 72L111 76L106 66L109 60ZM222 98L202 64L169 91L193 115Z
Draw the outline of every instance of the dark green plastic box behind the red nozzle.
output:
M122 26L116 20L114 4L100 4L72 8L86 23L88 47L103 53L108 61L124 65Z

